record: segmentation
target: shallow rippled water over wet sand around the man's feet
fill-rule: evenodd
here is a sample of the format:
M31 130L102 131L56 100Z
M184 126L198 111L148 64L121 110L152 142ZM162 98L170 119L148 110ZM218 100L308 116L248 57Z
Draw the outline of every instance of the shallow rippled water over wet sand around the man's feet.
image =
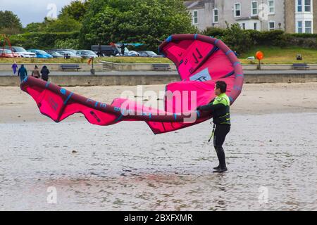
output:
M317 113L232 123L225 174L209 122L156 136L144 122L0 124L0 210L317 210Z

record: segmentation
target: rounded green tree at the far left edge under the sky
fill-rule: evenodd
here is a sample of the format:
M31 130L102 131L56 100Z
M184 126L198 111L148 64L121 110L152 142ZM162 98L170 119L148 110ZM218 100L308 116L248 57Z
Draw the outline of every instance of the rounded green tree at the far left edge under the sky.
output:
M21 30L22 24L18 15L11 11L0 11L0 32L13 34Z

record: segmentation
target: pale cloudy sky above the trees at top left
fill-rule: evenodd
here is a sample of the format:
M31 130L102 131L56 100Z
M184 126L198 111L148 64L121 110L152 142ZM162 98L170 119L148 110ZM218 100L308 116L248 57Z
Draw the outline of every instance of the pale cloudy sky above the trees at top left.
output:
M47 15L58 15L61 8L70 1L72 0L0 0L0 11L13 11L25 27L28 23L42 22Z

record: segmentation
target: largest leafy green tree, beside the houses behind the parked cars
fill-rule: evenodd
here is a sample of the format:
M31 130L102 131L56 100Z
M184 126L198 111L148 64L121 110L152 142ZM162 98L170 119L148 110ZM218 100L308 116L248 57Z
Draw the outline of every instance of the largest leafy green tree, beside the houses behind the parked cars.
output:
M157 49L170 34L197 32L181 0L92 0L83 20L80 44L142 42Z

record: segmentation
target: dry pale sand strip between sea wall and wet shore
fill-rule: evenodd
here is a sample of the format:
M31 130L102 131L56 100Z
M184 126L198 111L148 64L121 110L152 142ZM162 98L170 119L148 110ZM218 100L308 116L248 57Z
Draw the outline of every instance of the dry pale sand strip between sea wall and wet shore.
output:
M103 103L111 103L123 91L137 93L136 86L76 86L70 91ZM164 85L143 86L145 91L163 91ZM50 121L39 114L32 98L18 87L0 87L0 123ZM304 113L317 110L317 83L304 84L244 84L234 105L233 114L263 115L268 113ZM142 96L136 98L140 101ZM80 120L81 115L67 121Z

